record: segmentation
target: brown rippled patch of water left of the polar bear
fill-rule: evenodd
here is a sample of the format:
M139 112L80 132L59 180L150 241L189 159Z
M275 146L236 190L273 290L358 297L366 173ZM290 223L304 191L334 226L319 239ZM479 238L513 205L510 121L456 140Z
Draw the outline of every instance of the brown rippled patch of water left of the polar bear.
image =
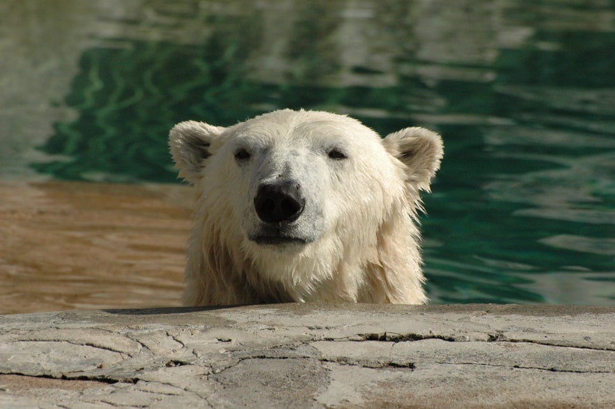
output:
M0 314L180 305L189 187L0 183Z

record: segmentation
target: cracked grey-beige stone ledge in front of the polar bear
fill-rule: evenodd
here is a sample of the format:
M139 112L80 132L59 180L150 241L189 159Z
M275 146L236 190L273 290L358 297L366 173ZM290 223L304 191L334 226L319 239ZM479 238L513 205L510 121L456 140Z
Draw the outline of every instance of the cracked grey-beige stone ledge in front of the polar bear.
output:
M615 308L0 316L2 408L613 408Z

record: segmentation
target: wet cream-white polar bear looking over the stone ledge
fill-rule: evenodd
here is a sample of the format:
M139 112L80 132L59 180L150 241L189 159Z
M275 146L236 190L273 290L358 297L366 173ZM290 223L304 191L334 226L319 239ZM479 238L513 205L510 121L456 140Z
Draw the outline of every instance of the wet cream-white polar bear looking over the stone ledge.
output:
M382 139L348 116L283 109L178 123L169 146L197 193L185 304L427 301L417 210L443 155L435 132Z

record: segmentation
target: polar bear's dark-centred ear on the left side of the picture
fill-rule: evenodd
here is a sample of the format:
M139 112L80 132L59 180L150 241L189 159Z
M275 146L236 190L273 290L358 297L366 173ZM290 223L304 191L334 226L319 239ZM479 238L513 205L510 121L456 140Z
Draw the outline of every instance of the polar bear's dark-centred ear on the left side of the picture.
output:
M221 126L196 121L180 122L169 132L171 156L179 169L179 176L189 183L201 178L203 160L211 156L212 140L224 131Z

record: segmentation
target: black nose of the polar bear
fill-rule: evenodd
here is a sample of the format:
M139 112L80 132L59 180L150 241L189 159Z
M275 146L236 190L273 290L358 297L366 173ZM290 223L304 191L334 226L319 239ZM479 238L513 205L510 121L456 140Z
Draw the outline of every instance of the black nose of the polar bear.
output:
M256 214L265 223L294 222L304 207L299 184L292 180L261 185L254 198Z

